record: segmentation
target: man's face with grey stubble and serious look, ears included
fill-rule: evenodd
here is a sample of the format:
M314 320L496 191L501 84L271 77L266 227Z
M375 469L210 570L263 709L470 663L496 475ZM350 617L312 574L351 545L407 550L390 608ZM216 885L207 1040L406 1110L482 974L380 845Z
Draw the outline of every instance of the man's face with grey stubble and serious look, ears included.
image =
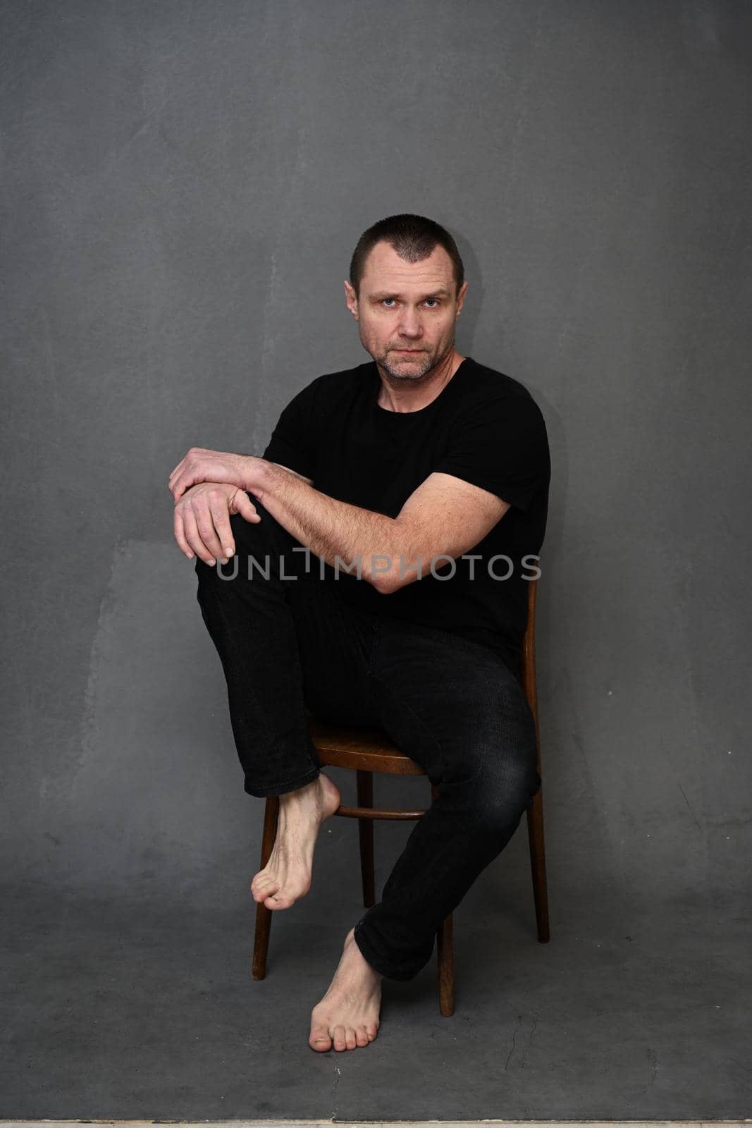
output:
M454 352L454 323L467 282L455 297L452 261L443 247L406 263L388 243L377 243L361 280L360 297L345 282L347 308L361 342L396 380L419 380Z

